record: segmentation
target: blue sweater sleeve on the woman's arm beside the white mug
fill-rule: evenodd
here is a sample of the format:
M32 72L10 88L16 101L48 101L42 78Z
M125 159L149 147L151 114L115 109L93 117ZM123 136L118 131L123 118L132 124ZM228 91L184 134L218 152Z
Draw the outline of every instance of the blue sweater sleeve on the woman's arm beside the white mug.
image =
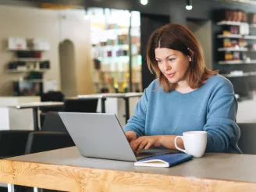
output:
M237 101L231 91L217 94L208 107L204 130L207 132L208 152L225 152L240 138L236 124ZM234 141L234 142L233 142Z

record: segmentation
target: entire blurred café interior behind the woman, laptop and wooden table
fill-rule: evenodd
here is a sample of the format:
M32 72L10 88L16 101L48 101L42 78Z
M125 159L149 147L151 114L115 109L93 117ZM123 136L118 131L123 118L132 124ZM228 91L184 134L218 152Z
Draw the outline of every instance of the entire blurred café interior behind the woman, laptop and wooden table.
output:
M73 146L59 111L124 126L155 80L148 37L166 23L192 30L232 82L239 146L256 154L256 0L0 0L0 23L0 157Z

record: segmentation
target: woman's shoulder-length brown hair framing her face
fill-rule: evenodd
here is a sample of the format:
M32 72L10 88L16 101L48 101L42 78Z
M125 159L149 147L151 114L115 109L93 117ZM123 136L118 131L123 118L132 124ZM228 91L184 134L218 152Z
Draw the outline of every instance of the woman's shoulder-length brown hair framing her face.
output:
M155 71L159 80L158 85L162 85L165 92L171 91L176 84L169 83L169 80L158 68L158 62L155 60L155 48L169 48L191 56L192 61L187 71L187 83L193 89L201 87L210 76L219 73L218 70L212 71L206 68L203 49L194 34L187 27L169 23L155 30L151 34L147 45L148 69L151 73ZM194 52L193 58L188 48Z

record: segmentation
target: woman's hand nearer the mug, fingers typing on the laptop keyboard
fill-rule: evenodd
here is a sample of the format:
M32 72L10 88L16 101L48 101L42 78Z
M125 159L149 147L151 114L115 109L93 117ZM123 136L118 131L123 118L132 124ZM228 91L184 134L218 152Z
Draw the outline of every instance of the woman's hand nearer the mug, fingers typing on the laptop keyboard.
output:
M137 140L133 140L130 143L131 148L133 149L133 151L137 151L137 154L139 154L142 149L147 150L151 148L151 146L158 148L161 145L162 145L161 136L159 135L139 137L137 138Z

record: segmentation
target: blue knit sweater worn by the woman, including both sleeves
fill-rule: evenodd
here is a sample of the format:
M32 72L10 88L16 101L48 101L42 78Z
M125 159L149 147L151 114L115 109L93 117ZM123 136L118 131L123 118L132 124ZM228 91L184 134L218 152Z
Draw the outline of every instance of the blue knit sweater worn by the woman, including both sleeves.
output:
M211 76L195 91L165 93L154 80L138 101L124 131L144 135L182 135L204 130L206 151L241 153L237 147L240 129L236 124L237 101L233 85L219 74Z

